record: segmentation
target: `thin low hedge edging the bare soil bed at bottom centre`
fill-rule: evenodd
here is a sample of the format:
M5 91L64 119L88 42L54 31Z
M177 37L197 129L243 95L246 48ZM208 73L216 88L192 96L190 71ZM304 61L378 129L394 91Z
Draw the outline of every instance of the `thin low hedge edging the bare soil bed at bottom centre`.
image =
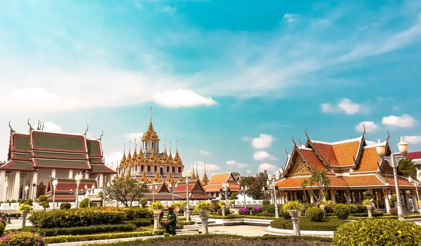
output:
M274 236L274 235L264 235L264 236L255 236L255 237L246 237L240 235L232 234L196 234L196 235L180 235L176 237L160 237L160 238L149 238L145 240L137 239L133 241L125 241L124 246L137 246L143 243L160 243L168 242L173 240L194 240L200 238L220 238L220 239L231 239L231 240L245 240L253 242L256 240L271 240L275 238L280 239L301 239L305 241L318 241L318 242L332 242L332 238L325 237L314 237L314 236ZM82 246L121 246L121 242L115 243L85 243Z

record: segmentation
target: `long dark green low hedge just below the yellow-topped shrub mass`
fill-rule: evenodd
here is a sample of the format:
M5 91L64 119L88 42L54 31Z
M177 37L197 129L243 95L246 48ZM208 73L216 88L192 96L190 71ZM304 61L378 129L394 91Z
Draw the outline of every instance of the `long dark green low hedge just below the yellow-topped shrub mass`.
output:
M150 225L150 224L149 224ZM112 232L133 232L136 230L136 225L93 225L84 227L65 227L65 228L50 228L37 229L33 226L25 226L23 228L8 229L5 233L11 232L30 232L37 233L43 237L53 237L61 235L89 235L92 233L112 233Z

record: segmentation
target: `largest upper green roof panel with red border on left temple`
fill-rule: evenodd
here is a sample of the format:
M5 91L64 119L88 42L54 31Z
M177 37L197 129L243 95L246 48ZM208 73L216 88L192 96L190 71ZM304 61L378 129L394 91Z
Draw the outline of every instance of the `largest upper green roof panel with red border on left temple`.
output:
M32 132L32 148L35 150L86 152L85 137L48 132Z

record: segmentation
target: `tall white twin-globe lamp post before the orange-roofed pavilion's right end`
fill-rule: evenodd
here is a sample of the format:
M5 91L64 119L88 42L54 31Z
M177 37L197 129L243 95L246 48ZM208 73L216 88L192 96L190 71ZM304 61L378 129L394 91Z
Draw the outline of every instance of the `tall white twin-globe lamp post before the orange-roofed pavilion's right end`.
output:
M378 156L384 161L388 161L393 168L393 177L395 183L395 190L396 190L396 203L397 203L397 215L399 216L400 220L403 220L403 210L402 210L402 200L400 198L400 190L399 190L399 183L397 178L397 165L400 160L404 159L406 154L408 153L408 143L403 141L403 138L400 138L400 142L397 144L399 148L399 152L402 156L395 156L394 152L390 154L390 156L384 156L386 153L386 145L381 143L380 139L378 140L378 144L376 146L376 151Z

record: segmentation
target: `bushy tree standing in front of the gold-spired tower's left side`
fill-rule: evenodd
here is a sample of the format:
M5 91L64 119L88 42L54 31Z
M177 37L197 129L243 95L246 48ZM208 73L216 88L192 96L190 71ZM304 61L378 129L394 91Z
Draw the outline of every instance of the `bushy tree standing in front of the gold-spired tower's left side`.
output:
M110 186L105 189L105 200L121 201L124 206L132 206L135 199L143 197L144 193L148 193L149 189L144 183L138 183L130 175L121 175L115 177ZM98 196L104 199L104 192L100 191Z

